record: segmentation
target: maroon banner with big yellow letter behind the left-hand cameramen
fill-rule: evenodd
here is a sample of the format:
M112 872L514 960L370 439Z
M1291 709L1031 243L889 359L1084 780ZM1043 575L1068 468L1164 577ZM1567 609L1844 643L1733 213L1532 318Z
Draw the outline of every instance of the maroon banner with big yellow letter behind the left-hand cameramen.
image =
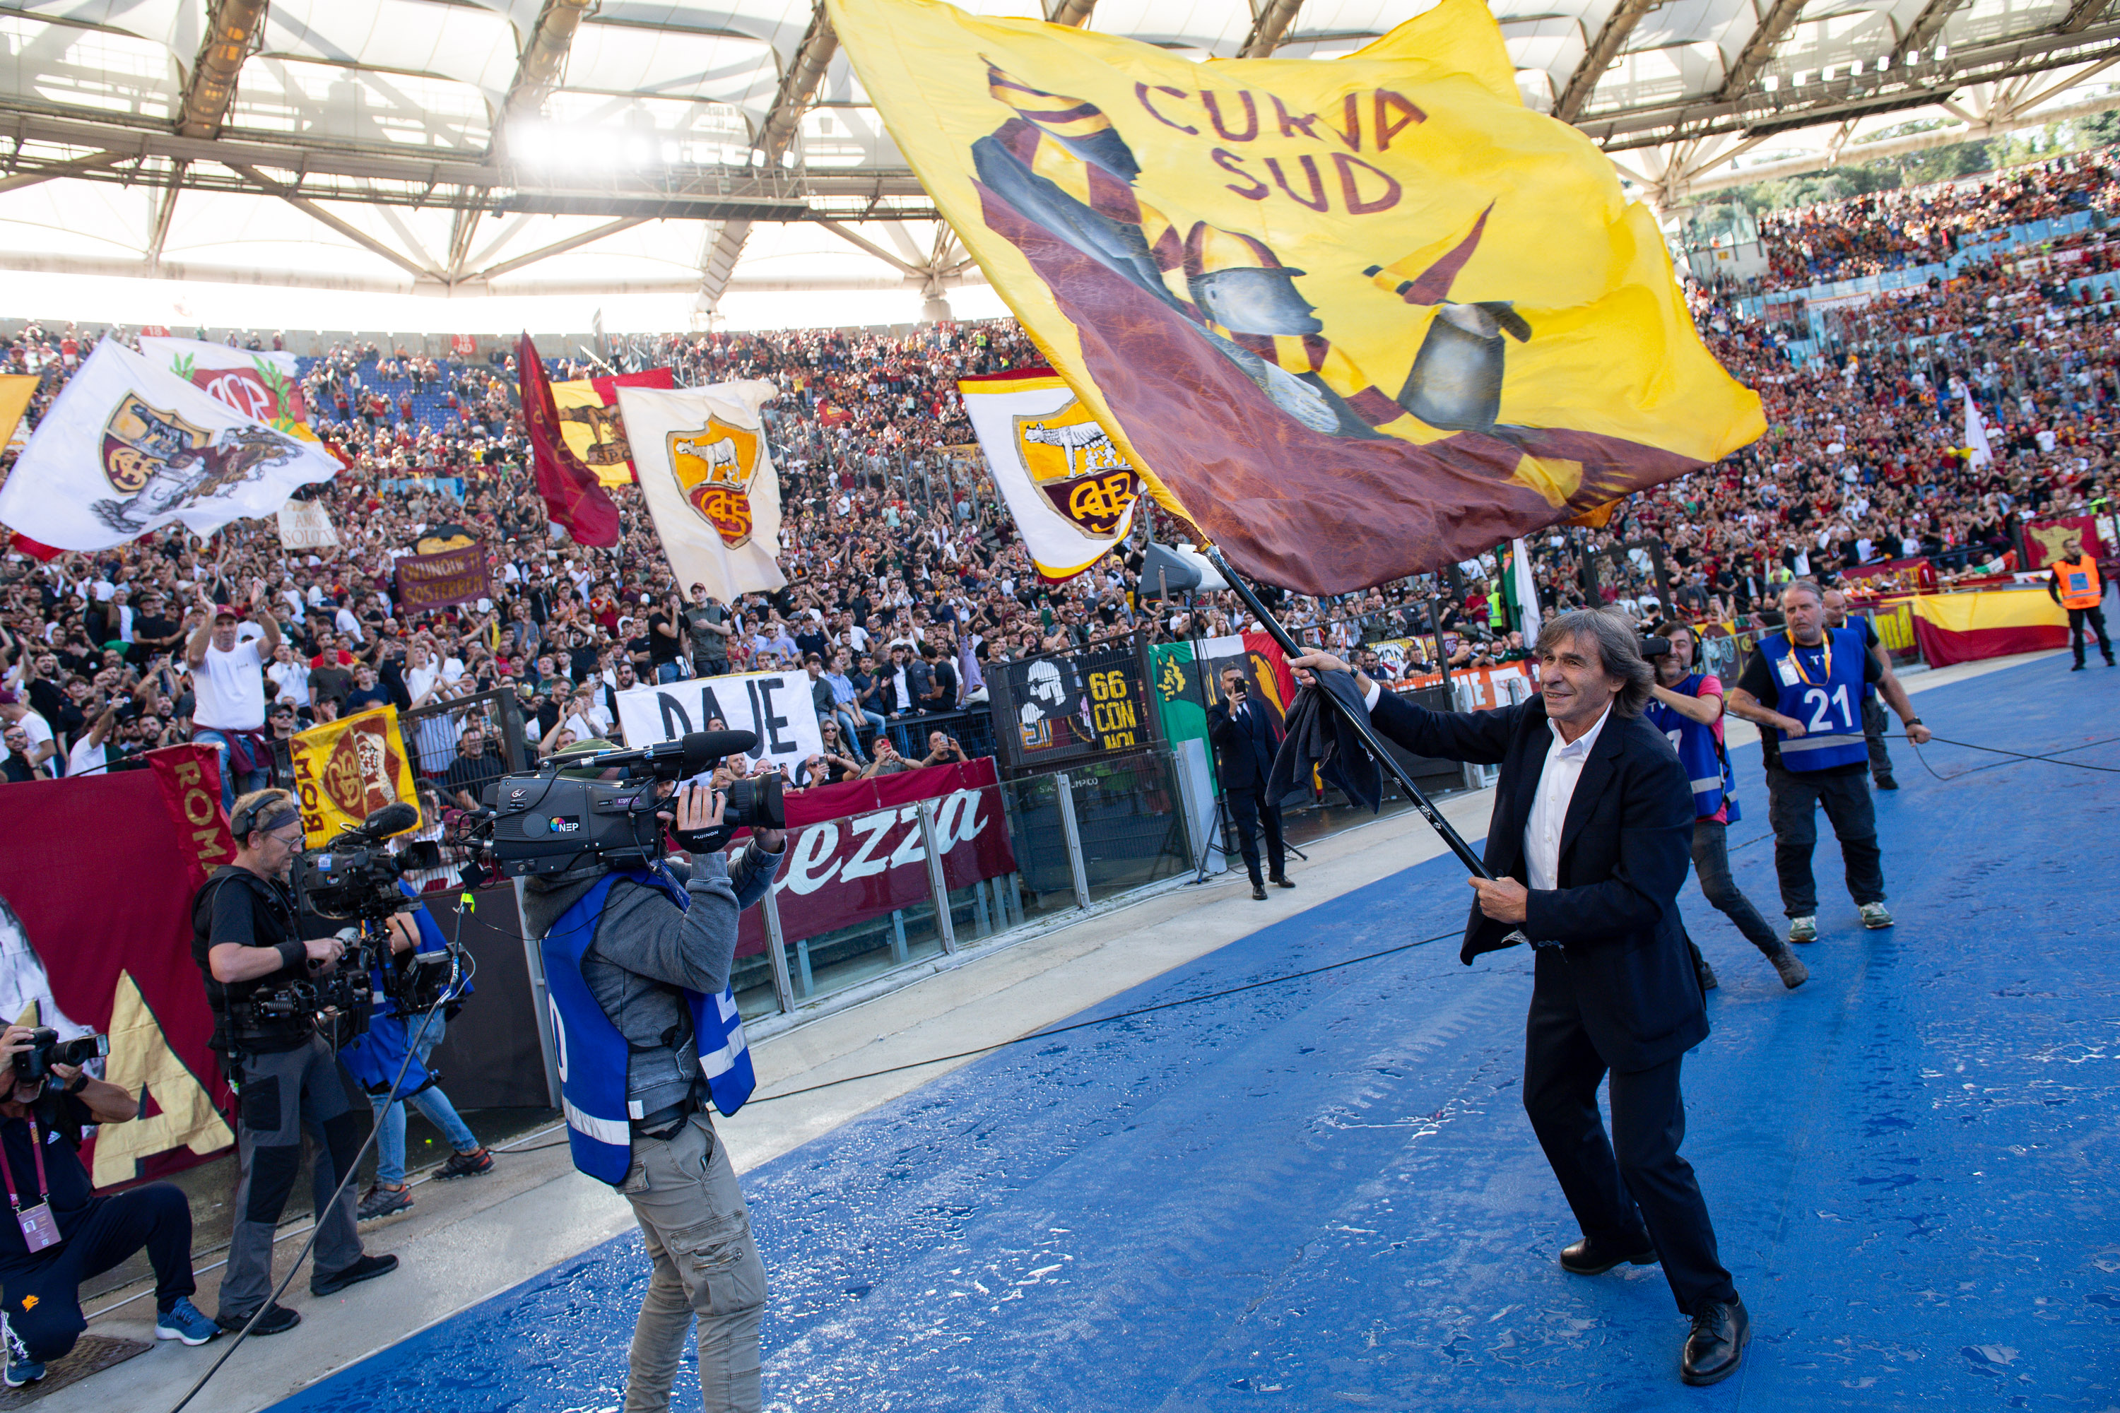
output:
M104 1078L142 1097L140 1119L104 1125L85 1150L95 1186L159 1178L227 1148L231 1097L191 962L191 898L235 856L214 752L170 746L148 752L144 771L8 788L0 1013L66 1038L110 1036ZM123 860L123 886L112 886L112 860Z

